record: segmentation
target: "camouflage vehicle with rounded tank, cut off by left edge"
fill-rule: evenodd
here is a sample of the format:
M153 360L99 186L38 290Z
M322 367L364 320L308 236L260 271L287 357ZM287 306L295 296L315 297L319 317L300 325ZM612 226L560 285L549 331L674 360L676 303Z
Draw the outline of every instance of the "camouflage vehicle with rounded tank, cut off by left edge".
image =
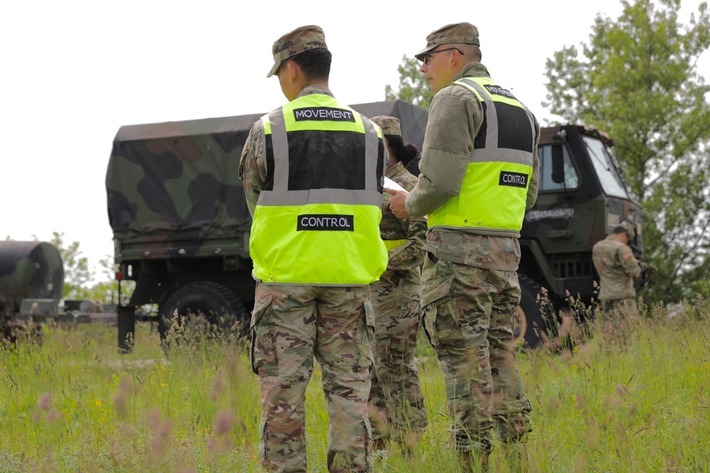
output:
M97 301L62 300L64 263L59 250L43 241L0 241L0 332L15 338L32 321L115 322Z

